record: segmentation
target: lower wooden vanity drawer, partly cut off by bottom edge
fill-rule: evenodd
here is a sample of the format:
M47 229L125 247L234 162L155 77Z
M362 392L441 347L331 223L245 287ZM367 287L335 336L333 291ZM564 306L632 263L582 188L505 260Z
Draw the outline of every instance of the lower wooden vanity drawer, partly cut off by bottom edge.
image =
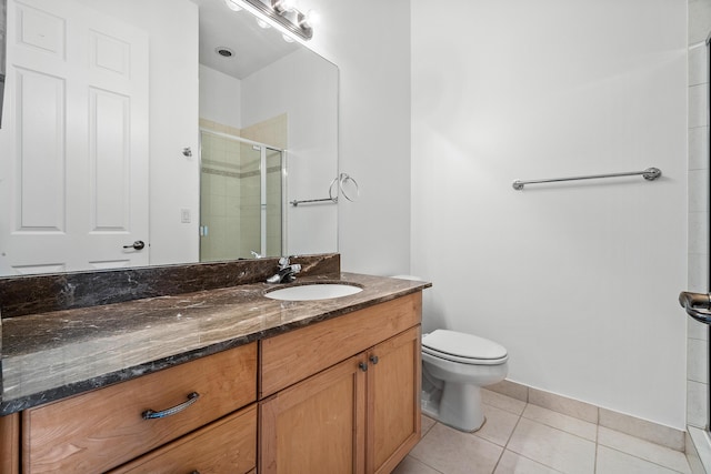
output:
M257 405L139 457L111 474L234 473L257 465Z

